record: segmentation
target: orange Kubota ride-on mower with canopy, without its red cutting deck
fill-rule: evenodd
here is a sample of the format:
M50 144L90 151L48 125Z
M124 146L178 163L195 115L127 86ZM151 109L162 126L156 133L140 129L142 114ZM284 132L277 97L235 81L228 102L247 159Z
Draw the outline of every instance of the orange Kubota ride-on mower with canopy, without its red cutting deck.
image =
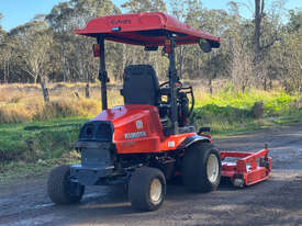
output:
M103 111L80 129L76 148L81 163L51 172L47 190L54 203L79 202L87 185L123 183L134 207L154 211L165 200L167 181L176 176L182 177L189 190L200 192L216 190L223 167L236 182L245 177L222 165L211 136L203 134L205 128L197 133L189 124L194 97L176 70L177 46L199 44L209 53L220 47L220 37L164 13L97 18L76 33L97 38L93 53L100 57ZM168 81L159 84L150 65L128 65L121 90L124 105L108 109L104 41L141 45L145 50L163 46L169 58Z

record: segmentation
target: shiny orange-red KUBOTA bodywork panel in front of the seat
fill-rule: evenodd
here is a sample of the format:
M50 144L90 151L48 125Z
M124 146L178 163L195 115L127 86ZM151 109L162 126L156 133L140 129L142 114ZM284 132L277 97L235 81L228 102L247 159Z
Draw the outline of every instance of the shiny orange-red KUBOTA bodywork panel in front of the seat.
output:
M175 150L187 137L197 135L186 133L165 136L158 110L152 105L114 106L102 111L92 121L110 121L113 124L113 143L118 154Z

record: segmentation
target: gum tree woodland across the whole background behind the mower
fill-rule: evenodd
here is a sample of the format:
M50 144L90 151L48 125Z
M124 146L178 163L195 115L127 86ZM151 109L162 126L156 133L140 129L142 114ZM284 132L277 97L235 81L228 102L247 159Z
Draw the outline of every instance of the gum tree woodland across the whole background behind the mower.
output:
M271 89L278 80L286 92L301 92L301 9L287 12L283 1L255 0L255 19L239 13L244 2L231 1L228 10L209 10L200 0L169 1L128 0L125 12L166 12L178 20L222 37L222 46L203 54L198 45L176 49L180 78L208 79L210 92L213 80L227 78L236 90ZM0 37L0 81L94 82L98 60L92 57L93 38L75 35L96 16L118 14L121 10L111 0L68 0L56 4L49 14L36 15ZM0 31L1 27L0 27ZM142 47L108 43L107 69L109 77L120 81L130 64L150 64L160 79L166 79L168 61L160 53L145 53ZM88 95L89 97L89 95Z

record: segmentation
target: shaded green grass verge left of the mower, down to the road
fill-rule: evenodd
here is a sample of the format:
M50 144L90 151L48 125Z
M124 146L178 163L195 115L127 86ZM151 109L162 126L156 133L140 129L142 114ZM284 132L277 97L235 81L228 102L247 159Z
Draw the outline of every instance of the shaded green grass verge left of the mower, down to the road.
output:
M0 124L0 183L77 159L70 154L86 121L75 117Z

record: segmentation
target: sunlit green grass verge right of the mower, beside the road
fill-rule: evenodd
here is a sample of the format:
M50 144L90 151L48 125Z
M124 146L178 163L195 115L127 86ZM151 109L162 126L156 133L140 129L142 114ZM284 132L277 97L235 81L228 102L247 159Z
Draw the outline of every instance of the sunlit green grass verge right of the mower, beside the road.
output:
M197 100L193 117L195 126L211 126L215 136L302 121L299 98L280 91L222 91L214 95L197 95ZM256 102L264 103L264 114L259 118L255 117L251 110Z

